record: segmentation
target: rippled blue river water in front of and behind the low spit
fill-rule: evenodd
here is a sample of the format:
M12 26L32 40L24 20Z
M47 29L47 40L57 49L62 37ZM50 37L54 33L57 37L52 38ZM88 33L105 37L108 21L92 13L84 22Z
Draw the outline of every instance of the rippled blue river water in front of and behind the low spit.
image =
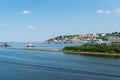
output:
M42 48L64 46L39 44ZM120 59L0 47L0 80L120 80Z

